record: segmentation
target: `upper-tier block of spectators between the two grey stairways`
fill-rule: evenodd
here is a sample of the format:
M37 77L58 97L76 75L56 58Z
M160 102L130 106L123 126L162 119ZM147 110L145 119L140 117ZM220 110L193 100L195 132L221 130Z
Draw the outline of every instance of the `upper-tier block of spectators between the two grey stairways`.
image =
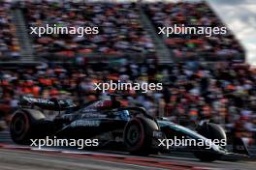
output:
M27 1L21 7L28 28L46 27L47 24L59 27L98 27L99 34L84 34L83 37L52 34L40 38L33 35L34 48L39 55L122 55L144 54L155 50L150 36L141 25L139 9L135 3Z

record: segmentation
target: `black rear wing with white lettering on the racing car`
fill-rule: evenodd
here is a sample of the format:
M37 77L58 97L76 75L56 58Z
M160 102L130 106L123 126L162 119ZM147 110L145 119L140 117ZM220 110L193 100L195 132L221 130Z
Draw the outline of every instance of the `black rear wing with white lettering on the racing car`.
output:
M70 99L40 99L32 97L21 97L19 99L19 106L22 108L40 107L46 110L61 111L69 108L77 107L77 105Z

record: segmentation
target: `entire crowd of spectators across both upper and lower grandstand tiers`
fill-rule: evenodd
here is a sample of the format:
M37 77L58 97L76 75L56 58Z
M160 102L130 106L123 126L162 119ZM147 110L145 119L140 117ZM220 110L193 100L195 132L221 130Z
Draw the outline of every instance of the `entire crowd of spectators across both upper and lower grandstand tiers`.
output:
M0 1L0 59L16 58L19 47L11 22L10 4ZM33 35L36 54L48 57L84 56L90 53L120 55L154 52L154 44L140 22L135 3L73 3L71 1L24 1L19 6L30 26L99 27L98 35ZM152 3L144 7L152 23L158 26L222 26L205 3ZM29 30L31 31L31 30ZM166 39L176 57L195 55L236 56L243 53L239 42L230 35ZM135 55L137 56L137 55ZM146 55L148 56L148 55ZM203 119L223 125L240 136L252 138L256 131L256 70L231 63L186 63L158 66L154 59L136 64L123 59L120 63L80 66L43 65L16 70L0 68L1 120L10 120L18 98L31 95L40 98L74 99L78 103L107 98L94 91L95 82L162 82L162 91L139 93L130 90L121 98L123 105L142 105L152 116L166 116L174 122L193 127Z

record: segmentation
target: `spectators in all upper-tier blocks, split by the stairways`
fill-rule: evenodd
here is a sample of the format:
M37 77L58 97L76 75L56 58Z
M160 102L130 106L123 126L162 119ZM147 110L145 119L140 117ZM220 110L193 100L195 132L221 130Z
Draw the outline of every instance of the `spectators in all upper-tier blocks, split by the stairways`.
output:
M1 2L0 57L18 57L19 47L15 27L9 14L10 3ZM16 5L23 12L28 28L46 27L98 27L99 34L45 34L30 35L37 56L47 59L84 56L141 55L155 52L151 35L142 24L139 3L73 2L73 1L22 1ZM205 2L146 3L144 13L158 27L225 26ZM143 12L143 11L142 11ZM163 39L177 60L244 59L244 51L228 30L224 35L171 35ZM66 56L66 57L63 57ZM201 57L198 57L201 56Z

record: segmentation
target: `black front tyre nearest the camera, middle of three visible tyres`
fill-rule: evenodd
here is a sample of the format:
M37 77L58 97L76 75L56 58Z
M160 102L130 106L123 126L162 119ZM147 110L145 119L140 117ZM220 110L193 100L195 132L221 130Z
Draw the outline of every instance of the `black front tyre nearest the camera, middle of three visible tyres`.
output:
M151 140L139 118L129 121L124 128L124 144L132 155L148 156L151 154Z

